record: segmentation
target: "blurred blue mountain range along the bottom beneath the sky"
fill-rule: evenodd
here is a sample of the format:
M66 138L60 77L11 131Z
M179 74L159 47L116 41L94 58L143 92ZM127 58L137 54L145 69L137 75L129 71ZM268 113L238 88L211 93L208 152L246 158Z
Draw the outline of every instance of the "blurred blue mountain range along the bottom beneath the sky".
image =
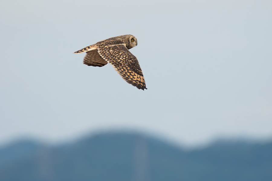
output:
M190 151L141 134L71 144L21 141L0 149L1 181L272 180L272 143L219 141Z

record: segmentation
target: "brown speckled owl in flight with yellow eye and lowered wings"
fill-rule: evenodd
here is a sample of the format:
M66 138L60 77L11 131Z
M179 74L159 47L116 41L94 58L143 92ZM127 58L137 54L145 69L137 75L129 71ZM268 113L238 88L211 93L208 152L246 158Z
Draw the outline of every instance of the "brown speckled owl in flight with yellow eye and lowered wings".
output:
M132 35L112 37L97 42L74 53L86 52L83 64L102 67L110 63L121 77L138 89L147 89L144 75L138 59L129 51L137 46L137 39Z

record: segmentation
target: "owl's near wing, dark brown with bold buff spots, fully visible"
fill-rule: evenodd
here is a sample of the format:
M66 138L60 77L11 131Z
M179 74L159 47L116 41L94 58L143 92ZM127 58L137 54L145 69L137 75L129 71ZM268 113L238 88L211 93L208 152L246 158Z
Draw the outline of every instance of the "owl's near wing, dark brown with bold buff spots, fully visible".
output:
M121 77L138 89L147 89L138 59L125 44L98 46L100 56L110 63Z

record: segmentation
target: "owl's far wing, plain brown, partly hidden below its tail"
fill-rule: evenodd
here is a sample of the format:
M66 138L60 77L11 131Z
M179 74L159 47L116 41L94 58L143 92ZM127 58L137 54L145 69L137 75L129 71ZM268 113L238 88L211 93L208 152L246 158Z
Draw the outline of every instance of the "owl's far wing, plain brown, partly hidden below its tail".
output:
M108 62L101 58L99 53L96 50L86 52L84 56L83 63L88 66L102 67Z

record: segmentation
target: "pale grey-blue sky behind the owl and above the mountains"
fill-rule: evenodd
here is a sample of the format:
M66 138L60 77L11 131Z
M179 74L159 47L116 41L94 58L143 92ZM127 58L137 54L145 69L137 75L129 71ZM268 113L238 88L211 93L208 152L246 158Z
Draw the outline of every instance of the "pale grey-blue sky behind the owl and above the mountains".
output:
M3 0L0 145L137 130L188 146L272 138L272 2ZM124 34L147 90L73 52Z

